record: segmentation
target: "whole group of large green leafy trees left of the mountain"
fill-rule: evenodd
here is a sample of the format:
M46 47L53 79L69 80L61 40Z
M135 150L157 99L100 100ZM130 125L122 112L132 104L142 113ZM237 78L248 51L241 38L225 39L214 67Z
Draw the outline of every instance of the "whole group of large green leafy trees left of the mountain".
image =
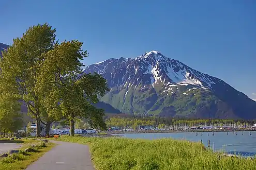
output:
M69 122L71 135L78 118L86 118L95 128L106 129L104 112L92 103L108 91L106 80L98 74L80 74L82 60L88 56L77 40L59 43L49 24L29 27L22 37L3 52L0 60L0 128L16 128L21 104L37 123ZM14 120L14 122L13 122ZM14 125L15 124L15 125Z

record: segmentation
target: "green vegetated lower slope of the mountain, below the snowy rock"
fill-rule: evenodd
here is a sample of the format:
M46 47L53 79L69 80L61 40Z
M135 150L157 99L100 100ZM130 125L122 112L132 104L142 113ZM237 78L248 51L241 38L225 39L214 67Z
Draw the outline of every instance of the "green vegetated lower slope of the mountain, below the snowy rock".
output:
M127 114L239 118L229 111L229 104L221 100L219 95L191 85L165 87L158 82L153 88L150 84L135 86L127 83L124 87L112 87L101 101Z

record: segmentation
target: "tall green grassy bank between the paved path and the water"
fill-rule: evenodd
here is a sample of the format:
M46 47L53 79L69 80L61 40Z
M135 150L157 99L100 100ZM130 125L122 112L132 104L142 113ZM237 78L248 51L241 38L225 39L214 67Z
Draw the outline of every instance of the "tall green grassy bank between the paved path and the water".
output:
M256 160L224 157L200 143L172 139L134 140L62 136L58 140L89 144L98 170L103 169L256 169Z

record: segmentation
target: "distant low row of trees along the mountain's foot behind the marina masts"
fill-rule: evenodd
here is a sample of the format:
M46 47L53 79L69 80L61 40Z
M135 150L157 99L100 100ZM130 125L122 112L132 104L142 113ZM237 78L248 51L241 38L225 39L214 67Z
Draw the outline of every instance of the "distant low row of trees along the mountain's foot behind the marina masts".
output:
M132 127L137 128L140 125L149 125L155 127L164 126L198 126L198 125L253 125L254 121L243 120L182 120L172 117L110 117L107 118L108 127Z

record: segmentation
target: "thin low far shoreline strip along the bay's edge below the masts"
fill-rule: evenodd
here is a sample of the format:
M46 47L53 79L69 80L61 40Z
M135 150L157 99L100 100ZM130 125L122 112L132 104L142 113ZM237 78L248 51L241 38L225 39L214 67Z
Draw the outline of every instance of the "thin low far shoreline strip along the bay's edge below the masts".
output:
M180 132L238 132L238 131L256 131L256 129L189 129L189 130L132 130L132 131L106 131L108 134L124 133L180 133Z

